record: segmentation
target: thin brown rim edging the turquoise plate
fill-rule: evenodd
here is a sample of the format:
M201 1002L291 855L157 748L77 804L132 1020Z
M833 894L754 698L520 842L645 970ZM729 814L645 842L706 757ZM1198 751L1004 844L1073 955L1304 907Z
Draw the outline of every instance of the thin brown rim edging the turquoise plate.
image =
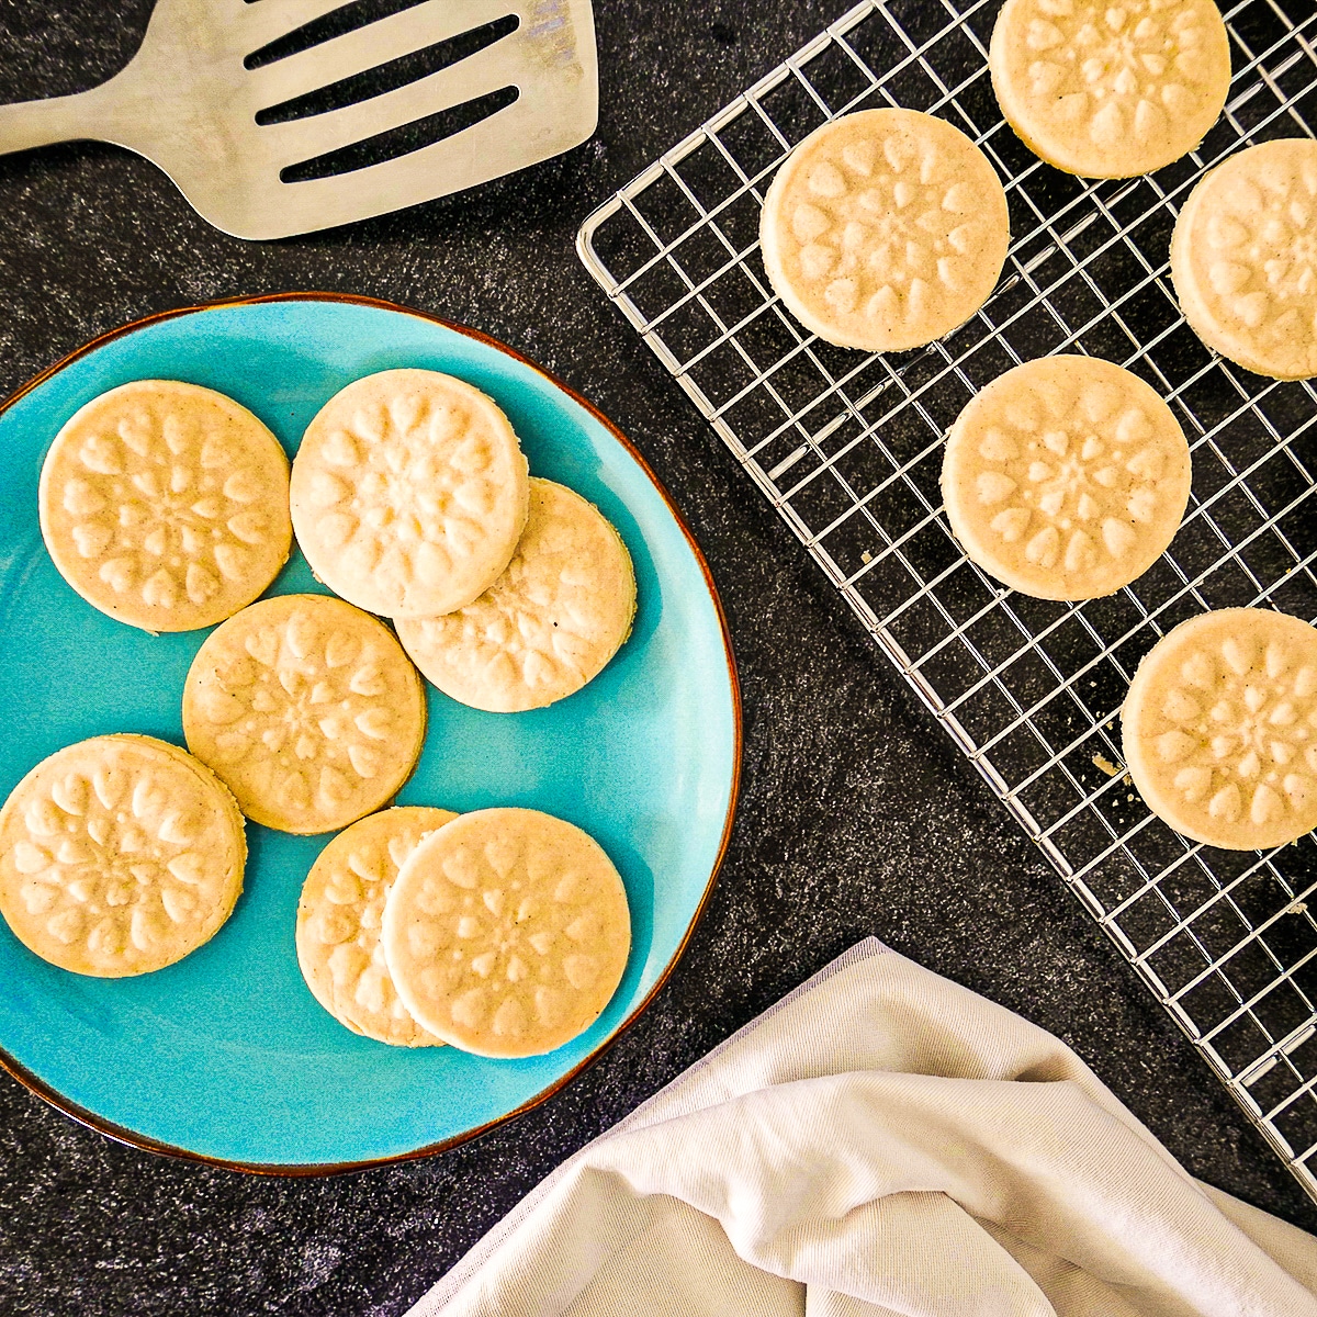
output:
M731 789L727 797L727 815L723 819L723 831L718 843L718 853L714 857L712 867L709 872L709 881L705 884L705 890L699 897L695 906L694 914L690 917L690 922L686 925L686 931L682 934L681 942L677 944L677 950L673 952L672 957L660 971L658 977L655 980L649 992L640 1000L640 1002L631 1010L631 1013L618 1025L616 1029L608 1034L591 1052L583 1056L576 1065L572 1067L565 1075L554 1080L552 1084L543 1088L539 1093L535 1093L520 1106L514 1108L511 1112L506 1112L502 1115L494 1117L491 1121L486 1121L483 1125L478 1125L470 1130L464 1130L461 1134L454 1134L446 1139L440 1139L435 1143L425 1143L419 1148L411 1148L406 1152L394 1152L389 1156L379 1158L365 1158L353 1162L244 1162L230 1158L212 1156L205 1152L196 1152L192 1148L179 1147L174 1143L166 1143L161 1139L153 1139L150 1135L140 1134L137 1130L132 1130L128 1126L119 1125L115 1121L109 1121L103 1115L97 1115L90 1108L83 1106L79 1102L72 1101L72 1098L65 1097L57 1088L47 1084L45 1080L34 1075L26 1065L24 1065L17 1058L12 1056L4 1047L0 1047L0 1069L5 1071L9 1076L16 1079L24 1088L36 1093L37 1097L47 1102L55 1110L62 1112L65 1115L76 1121L79 1125L87 1129L95 1130L97 1134L103 1134L107 1138L113 1139L117 1143L124 1143L129 1147L140 1148L144 1152L154 1152L159 1156L176 1158L183 1162L195 1162L203 1166L219 1167L225 1171L240 1171L248 1175L267 1175L267 1176L288 1176L288 1177L308 1177L308 1176L331 1176L331 1175L345 1175L354 1171L367 1171L375 1167L396 1166L403 1162L416 1162L421 1158L433 1156L437 1152L445 1152L449 1148L458 1147L462 1143L468 1143L471 1139L479 1138L482 1134L487 1134L490 1130L497 1129L500 1125L506 1125L508 1121L516 1119L519 1115L524 1115L527 1112L533 1110L543 1102L547 1102L556 1093L565 1089L573 1080L582 1075L589 1067L591 1067L603 1054L628 1030L631 1026L648 1010L651 1002L658 996L658 992L666 985L668 980L672 977L677 968L678 961L686 952L686 947L690 944L690 939L694 936L695 928L699 921L705 915L705 910L709 907L710 898L712 897L714 888L718 882L719 872L722 871L723 861L727 857L727 848L731 844L732 824L736 817L736 803L740 795L740 777L741 777L741 755L744 751L744 738L741 726L741 693L740 693L740 677L736 669L736 655L732 649L731 630L727 626L727 612L723 608L722 598L718 594L718 586L714 582L712 572L710 570L709 561L706 560L703 551L699 548L698 541L686 524L685 516L682 516L681 510L673 502L672 495L668 493L662 481L655 474L649 462L645 461L640 450L632 444L630 439L611 421L607 416L599 411L587 398L578 394L570 385L564 383L552 371L545 370L539 362L532 361L524 353L518 352L515 348L510 348L506 342L487 335L481 329L474 329L470 325L460 324L454 320L445 320L443 316L436 316L428 311L421 311L417 307L410 307L400 302L389 302L383 298L373 298L366 294L353 294L353 292L324 292L324 291L290 291L290 292L266 292L245 298L220 298L213 302L199 302L194 306L174 307L167 311L155 311L146 316L140 316L136 320L129 320L121 325L116 325L112 329L107 329L104 333L96 335L90 338L82 346L75 348L72 352L61 357L57 362L47 366L45 370L38 371L26 383L20 385L13 392L11 392L3 402L0 402L0 415L4 415L11 407L14 406L21 398L25 398L34 389L43 385L47 379L57 375L61 370L71 366L75 361L82 360L90 353L95 352L97 348L103 348L105 344L113 342L116 338L121 338L125 335L134 333L138 329L146 329L150 325L162 324L166 320L175 320L179 316L196 315L204 311L223 311L232 307L249 307L261 306L269 303L279 302L329 302L329 303L346 303L349 306L370 307L377 311L391 311L399 315L414 316L417 320L425 320L431 324L440 325L444 329L450 329L454 333L460 333L466 338L473 338L477 342L485 344L489 348L494 348L507 357L511 357L518 363L529 367L556 390L565 394L572 402L582 407L594 420L597 420L611 436L616 440L626 453L636 462L644 475L653 485L656 493L662 499L664 506L668 508L673 520L677 523L677 528L681 531L686 540L690 552L694 554L695 564L699 568L701 574L705 578L705 587L709 590L709 598L714 606L714 614L718 618L719 633L723 643L723 658L727 664L727 678L731 687L731 703L732 703L732 773L731 773Z

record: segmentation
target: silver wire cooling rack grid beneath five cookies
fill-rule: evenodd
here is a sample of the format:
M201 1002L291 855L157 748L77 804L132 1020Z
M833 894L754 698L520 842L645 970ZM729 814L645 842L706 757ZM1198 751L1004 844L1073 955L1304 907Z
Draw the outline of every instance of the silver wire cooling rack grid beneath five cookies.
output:
M1214 357L1184 324L1167 265L1177 207L1205 170L1317 122L1317 14L1285 3L1226 12L1234 80L1198 150L1155 175L1094 182L1043 165L1002 122L986 70L1000 0L865 0L599 207L578 249L1317 1198L1317 846L1226 852L1176 835L1123 773L1117 727L1139 660L1185 618L1237 605L1317 618L1317 390ZM982 311L896 356L805 332L759 257L781 161L824 120L876 105L968 133L1006 186L1015 234ZM964 403L1055 352L1141 374L1193 457L1171 549L1080 606L986 577L939 493L943 436Z

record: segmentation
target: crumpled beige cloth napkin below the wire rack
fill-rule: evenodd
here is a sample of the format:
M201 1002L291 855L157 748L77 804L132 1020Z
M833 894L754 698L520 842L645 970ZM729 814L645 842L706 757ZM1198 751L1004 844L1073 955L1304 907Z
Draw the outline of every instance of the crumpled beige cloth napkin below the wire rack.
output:
M411 1317L1317 1317L1314 1295L1317 1239L1191 1177L1051 1034L869 939Z

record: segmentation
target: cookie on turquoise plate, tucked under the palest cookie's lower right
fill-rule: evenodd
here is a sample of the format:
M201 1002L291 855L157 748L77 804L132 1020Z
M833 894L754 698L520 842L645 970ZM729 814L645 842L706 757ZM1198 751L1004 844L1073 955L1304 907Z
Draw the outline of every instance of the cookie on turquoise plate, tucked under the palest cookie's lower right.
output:
M474 603L400 618L398 639L445 695L495 714L543 709L607 666L631 631L636 576L593 504L531 481L531 516L507 570Z

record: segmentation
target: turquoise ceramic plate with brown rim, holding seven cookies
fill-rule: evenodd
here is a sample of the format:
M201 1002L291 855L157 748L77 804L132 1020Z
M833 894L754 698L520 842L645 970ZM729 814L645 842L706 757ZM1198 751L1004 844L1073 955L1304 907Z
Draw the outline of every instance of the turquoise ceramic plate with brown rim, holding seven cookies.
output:
M220 932L137 979L66 973L0 921L0 1063L115 1138L244 1169L345 1169L437 1151L543 1101L645 1008L709 898L731 826L740 705L709 569L633 448L510 349L366 299L299 294L169 312L74 353L0 411L0 798L38 760L103 732L183 743L179 701L208 632L151 637L65 585L37 525L37 475L63 421L129 379L187 379L254 411L291 454L349 381L425 366L490 394L533 475L572 486L636 566L631 639L585 690L485 714L429 690L400 805L523 805L595 836L622 871L633 944L616 996L548 1056L494 1062L386 1047L311 997L292 944L302 880L328 838L248 824L246 889ZM270 594L323 593L300 553Z

